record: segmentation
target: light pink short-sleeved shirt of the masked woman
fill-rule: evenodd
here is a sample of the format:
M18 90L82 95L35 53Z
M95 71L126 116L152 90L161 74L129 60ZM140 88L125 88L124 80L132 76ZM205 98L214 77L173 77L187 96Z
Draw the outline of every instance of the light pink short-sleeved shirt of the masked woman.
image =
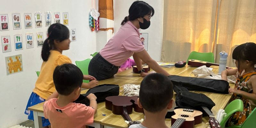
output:
M139 30L128 21L109 39L101 49L100 55L111 64L121 66L134 52L143 50L144 45L141 44Z

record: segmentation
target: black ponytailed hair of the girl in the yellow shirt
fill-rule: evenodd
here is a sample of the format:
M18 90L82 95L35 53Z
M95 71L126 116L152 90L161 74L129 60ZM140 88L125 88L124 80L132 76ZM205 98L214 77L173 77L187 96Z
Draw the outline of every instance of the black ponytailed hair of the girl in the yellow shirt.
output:
M60 23L54 23L48 28L49 37L44 41L41 56L44 61L47 61L50 55L50 50L54 49L54 40L63 41L69 38L68 28Z

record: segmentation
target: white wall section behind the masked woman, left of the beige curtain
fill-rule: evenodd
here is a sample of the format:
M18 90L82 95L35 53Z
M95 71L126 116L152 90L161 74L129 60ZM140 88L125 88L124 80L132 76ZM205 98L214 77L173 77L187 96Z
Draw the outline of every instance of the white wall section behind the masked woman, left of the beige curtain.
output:
M121 26L125 16L129 15L129 8L135 0L114 0L114 34ZM150 20L150 27L140 30L148 33L148 53L156 61L161 60L163 41L164 0L143 0L151 5L155 14Z

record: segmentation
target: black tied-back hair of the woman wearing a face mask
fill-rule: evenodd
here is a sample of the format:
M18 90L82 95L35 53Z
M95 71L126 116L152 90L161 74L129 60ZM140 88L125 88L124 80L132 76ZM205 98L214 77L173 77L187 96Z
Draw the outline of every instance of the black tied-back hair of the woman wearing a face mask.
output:
M135 1L132 3L131 7L129 8L129 16L126 16L124 18L121 25L124 25L124 23L129 20L135 20L147 14L151 14L151 16L153 16L154 13L155 13L154 8L150 6L148 3L144 1Z

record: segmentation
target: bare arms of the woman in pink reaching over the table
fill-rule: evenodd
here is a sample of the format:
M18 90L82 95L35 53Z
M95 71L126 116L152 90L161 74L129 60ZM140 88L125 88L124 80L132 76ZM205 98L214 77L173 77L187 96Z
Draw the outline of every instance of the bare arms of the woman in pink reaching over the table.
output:
M153 59L149 56L148 52L147 52L145 49L144 49L143 51L141 51L141 52L134 52L134 54L133 54L133 59L134 59L136 65L137 65L137 68L138 68L138 64L141 65L141 61L140 61L139 59L138 59L139 62L138 62L138 60L135 60L134 56L135 56L135 58L136 58L136 57L139 57L139 59L141 59L143 62L147 63L147 65L148 65L150 68L152 68L154 71L156 71L157 73L161 73L161 74L163 74L163 75L165 75L165 76L170 76L170 74L169 74L168 72L166 72L163 68L161 68L161 67L157 64L157 62L156 62L155 60L153 60ZM137 59L137 58L136 58L136 59ZM138 62L138 64L137 64L136 61ZM142 66L141 66L140 68L142 69ZM138 70L141 70L141 69L138 68Z

